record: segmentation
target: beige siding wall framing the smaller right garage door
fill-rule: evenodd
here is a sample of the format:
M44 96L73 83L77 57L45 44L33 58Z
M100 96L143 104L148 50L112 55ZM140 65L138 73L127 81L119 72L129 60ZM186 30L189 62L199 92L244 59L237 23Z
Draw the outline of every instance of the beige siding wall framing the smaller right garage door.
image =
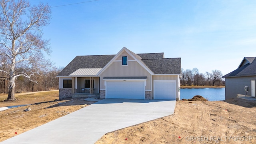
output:
M152 96L154 98L154 80L176 80L176 98L180 97L180 92L178 88L180 87L180 76L152 76Z

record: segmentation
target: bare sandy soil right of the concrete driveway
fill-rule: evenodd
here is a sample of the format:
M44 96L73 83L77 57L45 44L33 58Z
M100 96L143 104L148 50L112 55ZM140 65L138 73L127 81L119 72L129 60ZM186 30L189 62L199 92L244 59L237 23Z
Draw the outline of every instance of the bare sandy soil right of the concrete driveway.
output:
M104 135L96 144L256 144L256 101L179 101L174 114Z

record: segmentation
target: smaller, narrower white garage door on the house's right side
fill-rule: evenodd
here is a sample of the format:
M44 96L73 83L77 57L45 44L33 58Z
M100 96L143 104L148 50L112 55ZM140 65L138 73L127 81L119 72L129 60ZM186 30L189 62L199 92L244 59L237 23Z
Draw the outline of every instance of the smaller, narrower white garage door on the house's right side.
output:
M154 99L176 100L176 80L154 80Z

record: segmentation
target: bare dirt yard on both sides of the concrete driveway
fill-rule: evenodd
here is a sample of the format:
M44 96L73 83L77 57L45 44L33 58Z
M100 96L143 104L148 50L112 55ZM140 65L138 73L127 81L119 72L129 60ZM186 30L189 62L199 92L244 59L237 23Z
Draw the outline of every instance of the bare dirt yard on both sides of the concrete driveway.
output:
M4 98L0 95L0 101ZM0 112L0 142L93 103L83 99L56 100L58 91L17 98L16 102L0 102L0 107L24 101L36 104ZM28 107L31 111L24 112ZM256 101L178 101L173 115L108 133L96 142L120 143L256 144Z

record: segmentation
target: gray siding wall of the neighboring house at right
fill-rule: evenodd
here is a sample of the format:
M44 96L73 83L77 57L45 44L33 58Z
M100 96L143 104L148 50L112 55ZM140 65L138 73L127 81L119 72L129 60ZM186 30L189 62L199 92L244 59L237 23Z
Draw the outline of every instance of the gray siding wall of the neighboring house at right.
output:
M256 76L225 78L225 99L236 98L237 94L245 94L244 87L248 86L247 96L251 96L251 80L256 80Z

